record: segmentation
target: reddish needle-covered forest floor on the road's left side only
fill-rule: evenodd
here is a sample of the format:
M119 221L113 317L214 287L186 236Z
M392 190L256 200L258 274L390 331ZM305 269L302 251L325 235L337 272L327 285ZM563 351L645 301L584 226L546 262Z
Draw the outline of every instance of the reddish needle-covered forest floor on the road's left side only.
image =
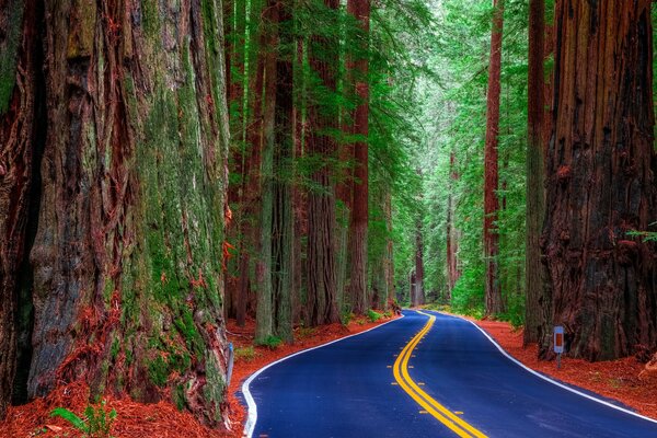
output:
M280 344L272 347L253 345L254 320L247 320L244 327L239 327L234 320L229 320L227 324L228 339L233 343L235 351L233 373L228 391L230 431L205 427L194 416L186 412L180 412L170 402L142 404L127 397L117 399L110 395L105 399L104 411L106 414L112 410L116 411L116 420L111 428L111 436L114 438L242 437L246 411L238 400L238 392L249 376L267 364L292 353L364 332L390 320L391 318L381 318L377 322L371 322L367 316L358 316L351 319L347 325L336 323L314 328L296 327L293 344ZM21 406L10 406L5 420L0 423L0 437L84 437L84 434L66 420L50 417L50 413L56 407L66 407L77 415L83 416L88 401L89 387L84 382L76 382L58 388L44 399L36 399ZM102 434L95 436L105 437Z

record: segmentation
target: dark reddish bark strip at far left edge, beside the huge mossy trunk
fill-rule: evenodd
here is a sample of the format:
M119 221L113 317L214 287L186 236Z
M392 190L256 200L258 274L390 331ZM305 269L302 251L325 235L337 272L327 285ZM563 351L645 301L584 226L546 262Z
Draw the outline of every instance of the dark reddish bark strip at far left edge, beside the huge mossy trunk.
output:
M0 418L26 396L32 269L27 255L39 208L44 148L43 4L0 9Z

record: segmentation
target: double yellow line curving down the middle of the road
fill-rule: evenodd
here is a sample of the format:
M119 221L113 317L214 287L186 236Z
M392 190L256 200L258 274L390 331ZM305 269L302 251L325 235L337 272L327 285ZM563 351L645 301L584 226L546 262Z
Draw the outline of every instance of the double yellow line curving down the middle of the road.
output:
M434 417L436 417L436 419L438 419L445 426L449 427L459 437L486 438L484 434L465 423L463 419L459 418L454 413L449 411L447 407L445 407L435 399L433 399L429 394L424 392L417 385L417 383L415 383L413 379L411 379L411 376L408 376L408 360L411 359L413 350L415 349L417 344L419 344L422 338L429 332L429 330L431 330L431 326L436 321L436 316L433 314L424 312L417 313L429 316L429 321L427 321L423 330L420 330L419 333L417 333L415 337L413 337L413 339L411 339L411 342L406 344L406 346L402 349L402 353L397 356L396 360L394 361L394 380L396 380L400 387L402 387L402 389L406 391L406 393L411 395L411 397L413 397L413 400L415 400L417 404L424 407L427 411L427 413L431 414Z

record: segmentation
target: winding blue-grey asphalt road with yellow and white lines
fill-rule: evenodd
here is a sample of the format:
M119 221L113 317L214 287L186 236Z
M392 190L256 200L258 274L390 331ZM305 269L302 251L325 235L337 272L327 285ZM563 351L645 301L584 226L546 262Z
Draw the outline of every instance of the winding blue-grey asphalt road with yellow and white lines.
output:
M539 377L435 312L297 354L242 390L253 437L657 437L656 422Z

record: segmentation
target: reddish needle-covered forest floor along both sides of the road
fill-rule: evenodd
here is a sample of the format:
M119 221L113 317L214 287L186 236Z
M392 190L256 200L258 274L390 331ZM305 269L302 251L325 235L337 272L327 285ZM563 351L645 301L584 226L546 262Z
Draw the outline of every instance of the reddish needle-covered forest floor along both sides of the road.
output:
M314 347L334 339L372 328L389 319L370 322L366 316L354 319L348 325L331 324L316 328L297 327L296 342L276 347L254 346L255 322L249 320L239 327L233 320L228 322L228 338L234 345L235 361L229 387L228 407L231 431L209 429L200 425L191 414L180 412L173 404L140 404L128 399L108 396L105 411L116 410L117 417L112 428L115 438L237 438L242 436L246 412L238 400L242 382L253 372L279 358L301 349ZM644 369L634 357L620 360L589 364L584 360L564 358L562 368L554 361L539 361L538 347L522 347L522 330L514 330L509 323L472 320L484 328L502 347L516 359L542 373L563 382L614 399L638 413L657 418L657 384L644 382L638 373ZM0 423L0 437L15 438L78 438L83 435L61 418L49 416L55 407L67 407L81 415L89 400L89 388L73 383L59 388L45 399L27 405L12 406L8 417ZM101 435L99 435L101 436Z

